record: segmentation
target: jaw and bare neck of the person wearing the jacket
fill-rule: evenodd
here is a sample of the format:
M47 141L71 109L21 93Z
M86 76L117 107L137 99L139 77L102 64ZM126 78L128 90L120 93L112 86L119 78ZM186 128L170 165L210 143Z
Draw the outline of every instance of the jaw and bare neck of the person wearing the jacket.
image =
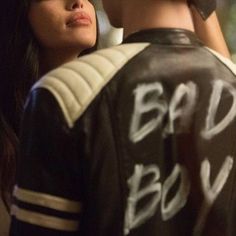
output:
M190 30L193 28L187 0L102 0L102 2L110 23L115 27L124 28L124 37L150 28L175 27ZM177 24L173 19L178 19Z

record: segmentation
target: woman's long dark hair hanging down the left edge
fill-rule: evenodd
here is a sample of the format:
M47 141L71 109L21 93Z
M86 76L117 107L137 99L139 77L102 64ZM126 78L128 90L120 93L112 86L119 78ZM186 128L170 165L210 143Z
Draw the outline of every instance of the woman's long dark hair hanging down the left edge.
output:
M39 77L39 45L28 21L31 1L6 0L0 16L0 193L8 210L23 106Z

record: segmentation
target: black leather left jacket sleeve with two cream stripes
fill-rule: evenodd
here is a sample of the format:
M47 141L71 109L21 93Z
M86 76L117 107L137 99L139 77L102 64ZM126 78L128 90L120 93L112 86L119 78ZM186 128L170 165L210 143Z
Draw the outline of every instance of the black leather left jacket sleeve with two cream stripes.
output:
M75 143L56 99L35 89L22 121L11 236L78 235L82 200Z

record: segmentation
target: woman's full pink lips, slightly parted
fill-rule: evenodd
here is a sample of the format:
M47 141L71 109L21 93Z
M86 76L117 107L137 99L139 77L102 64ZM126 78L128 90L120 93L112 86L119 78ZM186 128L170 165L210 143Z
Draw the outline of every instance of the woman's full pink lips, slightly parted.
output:
M69 20L66 23L68 27L87 26L91 24L92 24L91 17L85 12L75 13L69 18Z

